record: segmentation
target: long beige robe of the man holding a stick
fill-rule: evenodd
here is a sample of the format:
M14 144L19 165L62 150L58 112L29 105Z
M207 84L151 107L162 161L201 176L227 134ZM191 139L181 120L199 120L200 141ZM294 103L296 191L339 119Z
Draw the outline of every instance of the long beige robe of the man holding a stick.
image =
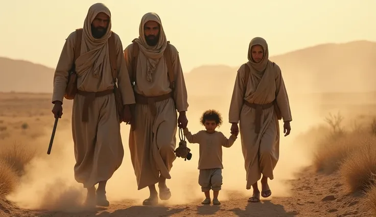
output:
M84 27L85 28L85 27ZM110 31L110 28L109 30ZM113 33L115 34L115 33ZM117 57L118 86L124 104L135 103L133 90L130 84L121 40L115 34ZM98 53L104 57L100 70L93 67L83 67L88 64L88 45L85 45L83 35L81 56L77 59L77 86L79 90L87 92L100 92L113 88L110 60L108 58L108 44L104 43L103 49ZM63 101L67 84L68 71L74 59L76 33L68 36L62 49L54 76L54 92L52 101ZM86 48L85 48L86 46ZM89 49L92 50L92 49ZM85 54L86 55L83 55ZM95 61L95 59L93 60ZM89 106L88 122L82 122L82 109L84 96L76 94L73 102L72 132L76 165L74 167L75 179L90 187L100 181L111 178L123 161L124 149L120 134L119 115L115 107L113 94L96 97Z

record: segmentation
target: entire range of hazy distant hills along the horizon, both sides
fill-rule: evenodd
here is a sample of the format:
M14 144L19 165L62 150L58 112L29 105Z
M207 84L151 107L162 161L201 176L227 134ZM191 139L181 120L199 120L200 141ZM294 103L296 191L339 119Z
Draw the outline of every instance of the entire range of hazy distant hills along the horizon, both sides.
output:
M376 43L321 44L270 57L294 93L376 91ZM230 95L239 66L201 66L185 73L190 95ZM0 92L52 92L54 69L0 58Z

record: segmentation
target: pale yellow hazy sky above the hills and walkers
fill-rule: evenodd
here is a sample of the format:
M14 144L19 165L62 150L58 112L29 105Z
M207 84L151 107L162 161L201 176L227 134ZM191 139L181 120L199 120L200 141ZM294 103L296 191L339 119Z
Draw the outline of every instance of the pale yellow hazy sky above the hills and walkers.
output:
M0 13L0 56L55 68L65 38L82 28L91 0L7 0ZM103 0L124 48L147 12L157 13L185 72L203 64L238 66L263 37L270 56L328 42L376 38L373 0Z

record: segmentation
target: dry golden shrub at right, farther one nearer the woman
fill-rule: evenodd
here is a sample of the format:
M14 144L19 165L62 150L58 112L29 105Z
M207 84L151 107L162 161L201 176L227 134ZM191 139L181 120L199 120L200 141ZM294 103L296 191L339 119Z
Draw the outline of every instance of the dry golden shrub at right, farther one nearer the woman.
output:
M313 158L316 171L327 174L337 171L343 159L361 146L360 137L359 133L349 132L341 136L332 135L322 140Z

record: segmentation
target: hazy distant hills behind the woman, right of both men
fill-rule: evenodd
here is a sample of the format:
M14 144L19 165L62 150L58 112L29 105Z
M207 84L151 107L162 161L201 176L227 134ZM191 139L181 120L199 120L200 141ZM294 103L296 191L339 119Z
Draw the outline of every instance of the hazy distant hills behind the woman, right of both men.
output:
M322 44L270 57L289 93L376 91L376 43ZM190 94L231 94L239 66L202 66L185 75ZM205 81L205 82L203 82Z

